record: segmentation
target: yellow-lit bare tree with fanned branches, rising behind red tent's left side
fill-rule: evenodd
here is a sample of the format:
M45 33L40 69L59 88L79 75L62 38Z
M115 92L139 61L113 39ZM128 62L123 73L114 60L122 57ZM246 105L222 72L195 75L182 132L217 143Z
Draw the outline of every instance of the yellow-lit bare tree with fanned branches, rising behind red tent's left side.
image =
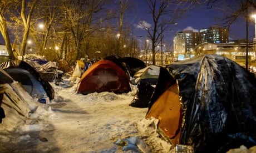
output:
M76 48L76 59L80 59L83 39L89 37L93 31L99 28L107 15L100 14L104 11L105 0L70 1L65 2L63 11L66 13L66 25L72 34ZM87 44L88 45L88 44Z

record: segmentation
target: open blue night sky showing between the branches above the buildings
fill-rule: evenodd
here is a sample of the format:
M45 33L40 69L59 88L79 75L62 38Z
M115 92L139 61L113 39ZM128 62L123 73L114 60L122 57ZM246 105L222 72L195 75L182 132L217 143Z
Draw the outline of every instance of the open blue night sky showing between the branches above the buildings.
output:
M134 16L129 16L132 18L132 22L134 22L134 33L136 35L143 35L146 37L147 33L145 30L136 28L136 24L139 21L143 20L150 24L152 21L152 17L150 14L146 13L146 9L148 6L144 1L137 1L136 7L134 8ZM253 40L255 37L255 24L254 18L251 17L252 14L249 14L248 22L248 39ZM171 26L171 31L164 35L165 42L173 41L173 37L176 32L182 32L186 28L200 30L201 28L208 28L211 25L221 25L221 18L223 18L223 12L219 12L217 9L209 9L206 6L201 8L193 9L186 13L186 15L177 21L177 25ZM246 38L246 21L243 18L239 18L238 21L233 23L229 29L229 40L237 40L237 39L245 39Z

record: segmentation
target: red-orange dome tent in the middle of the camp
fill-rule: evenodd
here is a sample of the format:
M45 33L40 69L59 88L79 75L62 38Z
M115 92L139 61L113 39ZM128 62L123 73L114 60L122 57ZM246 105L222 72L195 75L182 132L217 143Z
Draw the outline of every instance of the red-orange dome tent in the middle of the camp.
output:
M118 65L110 60L99 60L83 73L77 93L128 93L131 91L129 81L129 77Z

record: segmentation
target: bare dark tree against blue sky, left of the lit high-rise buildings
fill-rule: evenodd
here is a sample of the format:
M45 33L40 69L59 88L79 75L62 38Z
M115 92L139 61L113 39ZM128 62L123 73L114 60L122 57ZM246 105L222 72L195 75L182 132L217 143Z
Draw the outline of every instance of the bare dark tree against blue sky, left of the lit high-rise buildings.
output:
M164 32L171 25L176 24L184 14L197 6L214 3L218 0L146 0L149 8L148 13L152 16L152 25L150 22L140 22L140 26L146 30L147 37L152 42L152 64L155 65L155 48L164 38ZM222 1L222 0L220 0Z

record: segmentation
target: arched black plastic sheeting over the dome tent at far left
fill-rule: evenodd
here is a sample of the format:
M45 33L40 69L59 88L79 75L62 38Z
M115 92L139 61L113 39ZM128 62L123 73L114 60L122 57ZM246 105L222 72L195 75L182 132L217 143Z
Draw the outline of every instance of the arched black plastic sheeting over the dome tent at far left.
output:
M7 68L13 68L13 67L19 67L27 70L29 73L31 73L40 83L42 84L43 88L45 89L47 96L50 100L54 99L54 90L51 86L51 84L43 78L31 65L28 63L22 61L22 60L9 60L8 62L1 63L0 68L7 69Z

